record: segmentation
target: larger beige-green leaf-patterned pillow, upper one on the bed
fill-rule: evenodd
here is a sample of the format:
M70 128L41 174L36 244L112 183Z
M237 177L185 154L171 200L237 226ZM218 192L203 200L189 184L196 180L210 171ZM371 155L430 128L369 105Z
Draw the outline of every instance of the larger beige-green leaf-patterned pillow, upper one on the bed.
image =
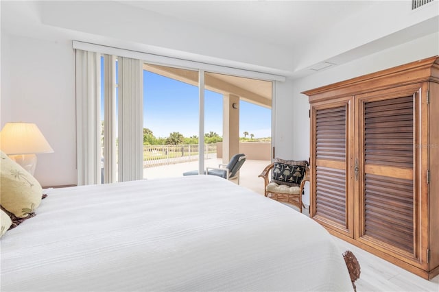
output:
M43 188L29 172L0 151L0 204L16 217L25 218L40 206Z

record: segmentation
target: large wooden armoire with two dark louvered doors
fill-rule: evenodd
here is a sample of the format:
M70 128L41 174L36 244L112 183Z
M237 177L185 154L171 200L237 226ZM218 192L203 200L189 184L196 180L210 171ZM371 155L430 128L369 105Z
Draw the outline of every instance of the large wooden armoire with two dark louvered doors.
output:
M304 94L310 217L418 276L438 275L439 58Z

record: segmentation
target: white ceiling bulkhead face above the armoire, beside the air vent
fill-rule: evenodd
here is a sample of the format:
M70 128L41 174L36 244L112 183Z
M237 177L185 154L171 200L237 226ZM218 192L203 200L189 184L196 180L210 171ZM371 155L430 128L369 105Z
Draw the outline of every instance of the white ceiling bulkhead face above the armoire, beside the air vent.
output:
M360 58L371 52L372 48L382 50L392 44L410 41L414 36L426 36L438 31L439 4L436 1L416 10L411 9L412 1L370 3L361 12L322 30L309 44L304 45L300 51L298 69L322 60L340 64L340 54L346 53L342 58L344 60L351 59L351 53L355 58Z

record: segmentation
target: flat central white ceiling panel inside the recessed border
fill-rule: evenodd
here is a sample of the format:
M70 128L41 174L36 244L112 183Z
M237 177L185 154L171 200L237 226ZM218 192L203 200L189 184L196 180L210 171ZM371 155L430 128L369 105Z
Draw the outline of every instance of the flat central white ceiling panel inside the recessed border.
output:
M294 49L374 1L119 1L136 8ZM285 37L289 36L289 37Z

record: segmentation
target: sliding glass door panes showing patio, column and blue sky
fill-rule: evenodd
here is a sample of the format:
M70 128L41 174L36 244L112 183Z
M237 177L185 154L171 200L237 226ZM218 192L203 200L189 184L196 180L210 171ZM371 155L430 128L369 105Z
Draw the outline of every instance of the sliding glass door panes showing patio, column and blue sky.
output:
M244 151L242 141L254 142L245 151L266 151L263 159L270 160L271 147L257 142L270 143L272 82L203 71L200 78L198 71L152 64L143 69L144 178L227 164Z

